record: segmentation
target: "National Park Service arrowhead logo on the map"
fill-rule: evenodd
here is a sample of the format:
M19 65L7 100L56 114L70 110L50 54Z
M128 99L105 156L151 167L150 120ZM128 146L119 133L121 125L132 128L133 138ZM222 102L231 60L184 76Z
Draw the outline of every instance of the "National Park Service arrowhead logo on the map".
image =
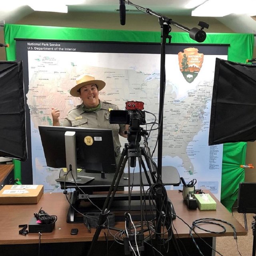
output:
M204 62L204 54L198 53L197 48L186 48L178 53L180 72L188 83L197 77Z

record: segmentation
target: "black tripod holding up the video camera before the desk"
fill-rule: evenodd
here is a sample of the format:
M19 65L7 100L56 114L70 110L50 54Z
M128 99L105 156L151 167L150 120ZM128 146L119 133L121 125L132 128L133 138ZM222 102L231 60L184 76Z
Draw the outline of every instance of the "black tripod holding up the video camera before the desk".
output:
M140 138L141 135L144 136L144 144L145 144L145 149L140 147ZM143 232L143 210L142 210L142 200L143 200L143 195L142 195L142 168L144 168L145 170L145 175L148 181L148 184L151 186L152 183L150 181L150 178L148 176L148 173L146 172L146 168L144 165L144 162L142 161L142 156L144 156L146 163L148 165L148 168L150 170L150 174L152 177L152 181L154 184L156 184L156 179L154 177L153 174L156 173L156 166L152 161L152 157L150 156L150 152L149 152L149 148L148 148L148 144L146 141L146 132L143 131L141 128L139 128L139 130L133 130L133 129L129 129L128 132L128 144L125 144L124 149L122 150L122 154L121 154L121 158L120 161L118 163L118 166L116 168L116 172L114 174L114 178L112 181L112 184L110 186L110 189L108 191L108 195L106 197L106 200L104 202L104 205L102 207L102 212L100 213L100 217L98 220L98 226L96 228L96 232L94 234L94 237L92 239L92 243L90 245L90 249L88 250L88 254L87 256L92 255L92 251L93 248L95 246L96 241L98 240L98 237L100 235L100 232L102 230L102 228L104 227L104 223L108 217L108 214L110 213L110 207L111 204L114 200L114 196L116 194L116 191L118 189L118 184L120 182L120 179L122 177L122 173L124 171L124 167L126 162L128 161L128 178L130 180L130 164L132 167L134 167L134 163L136 162L136 158L138 158L138 163L139 163L139 170L140 170L140 207L141 207L141 211L140 211L140 226L141 226L141 230L140 230L140 234L134 236L134 234L130 233L131 230L131 222L129 221L128 216L130 216L130 214L125 214L126 217L126 221L128 222L128 224L126 223L126 234L127 234L127 238L124 239L124 244L125 244L125 252L126 255L127 254L133 254L136 255L135 251L137 251L137 253L140 255L140 252L142 252L144 250L144 232ZM128 160L129 159L129 160ZM159 181L158 181L159 182ZM162 192L160 192L160 190L157 188L156 189L156 206L159 209L163 208L162 202L161 202L161 194ZM128 207L129 210L131 209L131 190L130 190L130 182L128 183ZM165 208L168 208L168 206L164 206ZM162 211L160 211L162 212ZM156 211L156 219L158 219L158 211ZM171 216L170 216L171 217ZM167 218L167 216L164 216L164 218ZM158 221L157 223L158 227L157 230L159 228L159 225L161 225L161 222ZM170 223L168 223L168 225L170 225ZM169 227L168 227L169 228ZM128 234L128 231L129 233ZM158 234L159 236L159 234ZM159 243L158 243L159 244Z

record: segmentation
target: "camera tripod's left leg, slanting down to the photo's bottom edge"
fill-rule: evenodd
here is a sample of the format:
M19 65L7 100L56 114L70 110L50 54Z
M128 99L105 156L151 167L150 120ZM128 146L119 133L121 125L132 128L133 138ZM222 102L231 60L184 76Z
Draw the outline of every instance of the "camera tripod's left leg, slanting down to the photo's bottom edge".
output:
M125 156L125 158L124 158L124 156ZM104 205L102 207L102 212L100 213L100 217L99 217L99 220L98 220L98 225L97 225L95 234L94 234L94 236L92 238L92 243L90 244L90 248L88 250L87 256L90 256L90 254L91 254L91 252L92 252L92 250L94 248L94 245L95 245L95 243L98 240L98 237L100 235L102 227L103 227L103 225L104 225L104 223L106 221L106 218L108 217L109 209L110 209L111 203L112 203L112 201L114 199L114 196L116 194L116 190L118 188L118 184L119 184L120 179L122 177L122 173L124 171L124 166L125 166L125 163L127 161L127 158L128 158L127 147L125 147L123 149L123 151L122 151L121 158L120 158L120 161L119 161L118 166L116 168L116 172L115 172L112 184L110 186L110 189L108 191L108 195L107 195L106 200L104 202ZM113 193L112 193L112 191L113 191Z

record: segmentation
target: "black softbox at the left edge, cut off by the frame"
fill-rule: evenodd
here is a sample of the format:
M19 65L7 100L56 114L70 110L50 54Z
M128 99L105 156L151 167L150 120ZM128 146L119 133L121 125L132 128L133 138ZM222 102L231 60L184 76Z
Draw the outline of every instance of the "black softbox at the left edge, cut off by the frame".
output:
M21 61L0 62L0 156L27 159Z

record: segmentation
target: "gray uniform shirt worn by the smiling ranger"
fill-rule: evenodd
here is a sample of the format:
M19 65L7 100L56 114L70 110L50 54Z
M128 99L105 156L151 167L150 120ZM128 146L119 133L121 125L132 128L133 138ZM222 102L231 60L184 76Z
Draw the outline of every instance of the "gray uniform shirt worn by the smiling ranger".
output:
M111 129L114 137L115 154L116 157L120 156L121 144L119 140L119 132L124 132L125 124L109 123L110 110L118 110L118 106L108 102L101 102L100 110L95 112L84 112L82 106L83 104L70 110L64 119L62 126Z

